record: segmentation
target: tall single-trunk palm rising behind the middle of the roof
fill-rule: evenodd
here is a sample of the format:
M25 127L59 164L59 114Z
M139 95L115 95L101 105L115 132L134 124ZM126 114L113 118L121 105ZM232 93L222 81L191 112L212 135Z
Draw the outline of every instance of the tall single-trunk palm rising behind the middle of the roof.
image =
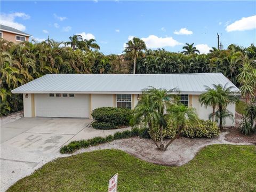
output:
M128 43L126 43L125 52L130 53L133 57L133 74L136 69L136 59L141 54L142 50L146 50L146 44L140 38L133 37Z

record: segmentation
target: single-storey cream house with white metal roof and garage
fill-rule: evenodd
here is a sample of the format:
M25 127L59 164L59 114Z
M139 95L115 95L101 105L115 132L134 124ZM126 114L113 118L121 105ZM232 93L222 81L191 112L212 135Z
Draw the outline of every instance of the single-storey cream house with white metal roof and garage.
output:
M25 117L82 117L92 118L91 111L98 107L134 108L142 90L156 88L180 90L181 102L194 107L199 118L208 119L211 107L205 108L198 102L205 92L205 85L221 84L234 86L221 73L207 74L157 74L157 75L114 75L114 74L52 74L37 78L12 90L23 94ZM178 94L178 93L177 93ZM235 105L228 110L235 116ZM226 126L234 126L227 119Z

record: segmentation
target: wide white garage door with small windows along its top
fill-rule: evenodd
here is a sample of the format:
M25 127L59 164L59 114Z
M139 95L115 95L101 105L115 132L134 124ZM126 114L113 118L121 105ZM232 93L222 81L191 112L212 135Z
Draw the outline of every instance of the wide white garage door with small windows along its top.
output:
M37 117L89 118L89 114L88 94L35 94Z

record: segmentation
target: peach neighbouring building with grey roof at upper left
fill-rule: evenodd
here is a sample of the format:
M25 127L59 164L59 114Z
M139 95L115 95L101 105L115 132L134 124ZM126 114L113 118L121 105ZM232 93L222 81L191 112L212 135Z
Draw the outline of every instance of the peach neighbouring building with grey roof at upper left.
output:
M29 37L32 36L18 29L0 25L0 37L9 42L20 43L23 41L28 41Z

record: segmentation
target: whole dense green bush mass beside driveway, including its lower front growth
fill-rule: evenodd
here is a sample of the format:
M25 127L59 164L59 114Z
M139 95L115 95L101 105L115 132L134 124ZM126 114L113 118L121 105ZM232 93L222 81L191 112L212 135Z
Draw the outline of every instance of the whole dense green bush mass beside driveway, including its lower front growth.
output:
M92 111L95 122L92 126L95 129L118 129L120 126L129 125L131 109L116 107L100 107Z

